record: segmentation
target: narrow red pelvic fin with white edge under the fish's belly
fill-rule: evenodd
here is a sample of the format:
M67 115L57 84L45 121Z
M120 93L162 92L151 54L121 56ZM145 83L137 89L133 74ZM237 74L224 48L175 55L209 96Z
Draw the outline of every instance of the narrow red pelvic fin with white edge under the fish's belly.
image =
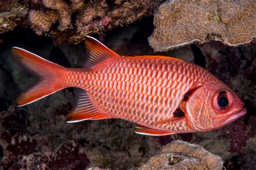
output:
M135 130L135 133L149 135L149 136L165 136L165 135L176 133L176 132L168 132L163 130L147 128L146 126L143 126L143 125L136 125L135 128L137 128Z

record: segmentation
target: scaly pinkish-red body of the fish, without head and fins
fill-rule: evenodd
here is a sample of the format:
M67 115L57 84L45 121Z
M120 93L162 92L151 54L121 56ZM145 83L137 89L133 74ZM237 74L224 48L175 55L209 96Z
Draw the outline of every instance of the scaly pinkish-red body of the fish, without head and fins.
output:
M115 118L126 119L150 128L161 126L161 129L172 130L174 127L172 123L165 125L153 125L153 123L173 117L173 112L194 82L206 81L207 77L212 79L211 75L206 76L208 73L204 69L184 61L120 58L105 62L106 64L104 61L100 63L104 67L97 70L81 72L70 69L69 75L73 76L64 76L68 79L64 81L71 82L70 87L88 91L90 98L96 101L93 104L99 110ZM138 73L140 69L146 72ZM191 76L192 69L197 70L200 76ZM75 83L72 84L70 79ZM161 95L162 93L164 96ZM139 104L142 106L137 107Z

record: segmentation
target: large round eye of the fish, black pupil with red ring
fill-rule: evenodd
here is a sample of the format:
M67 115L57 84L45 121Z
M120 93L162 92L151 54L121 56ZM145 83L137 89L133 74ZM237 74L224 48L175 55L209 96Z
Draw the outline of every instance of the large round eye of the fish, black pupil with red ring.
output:
M233 105L233 95L228 90L220 90L213 96L212 104L216 112L225 113Z

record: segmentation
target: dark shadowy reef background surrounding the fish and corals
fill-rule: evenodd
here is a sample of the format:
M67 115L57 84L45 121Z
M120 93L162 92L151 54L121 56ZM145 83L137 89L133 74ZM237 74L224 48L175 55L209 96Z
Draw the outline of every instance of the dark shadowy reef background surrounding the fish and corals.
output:
M103 29L104 31L92 31L90 36L99 39L120 55L173 56L206 68L244 101L247 114L214 131L152 137L134 133L136 124L121 119L66 123L65 116L72 108L73 88L58 91L24 107L16 107L18 94L36 79L17 65L11 54L11 47L24 48L65 67L80 67L85 57L83 40L73 44L66 39L58 42L56 37L45 30L41 30L46 33L39 36L38 32L35 33L35 27L17 24L19 26L11 30L0 29L0 167L136 169L156 155L163 146L174 140L183 140L201 145L205 150L218 155L223 159L223 167L226 169L256 168L255 37L237 47L207 40L203 44L195 42L166 49L166 52L154 52L148 38L154 30L154 9L161 2L148 1L146 5L154 4L148 11L142 12L139 18L133 18L129 22L126 20L127 23L119 23ZM106 3L113 5L108 1ZM126 5L123 1L118 3L115 2L114 5ZM127 4L129 5L132 4ZM4 15L2 10L0 17L4 18ZM24 16L26 15L28 14ZM126 15L132 18L133 15L138 16L138 13ZM96 15L95 18L97 20L97 17L103 16ZM57 27L53 25L55 26ZM97 23L94 26L97 27ZM256 28L252 26L252 29L255 33ZM58 34L58 38L61 36L66 34Z

